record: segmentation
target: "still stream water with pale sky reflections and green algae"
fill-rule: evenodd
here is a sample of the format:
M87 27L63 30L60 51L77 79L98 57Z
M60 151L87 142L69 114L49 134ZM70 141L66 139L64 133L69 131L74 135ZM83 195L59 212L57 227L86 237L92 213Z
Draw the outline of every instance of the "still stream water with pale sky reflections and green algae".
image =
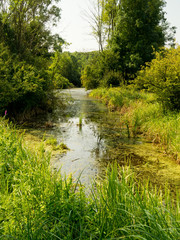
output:
M117 161L130 165L139 177L180 189L180 166L163 149L142 137L129 139L118 113L109 112L100 101L88 97L84 89L56 94L68 102L66 107L57 106L53 113L32 119L29 126L31 134L42 136L46 132L69 147L67 153L53 158L55 169L80 176L81 182L88 185L109 163ZM47 123L52 126L47 128Z

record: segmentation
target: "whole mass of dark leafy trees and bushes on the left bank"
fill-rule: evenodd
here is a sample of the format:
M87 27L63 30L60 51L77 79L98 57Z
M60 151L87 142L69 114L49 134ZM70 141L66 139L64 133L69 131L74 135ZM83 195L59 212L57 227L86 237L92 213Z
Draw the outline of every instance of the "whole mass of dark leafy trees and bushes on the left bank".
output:
M0 3L0 112L8 109L9 117L36 107L46 109L53 87L48 73L51 51L60 51L64 43L47 27L60 19L60 8L54 5L58 2ZM67 81L61 84L58 80L58 86L67 85Z

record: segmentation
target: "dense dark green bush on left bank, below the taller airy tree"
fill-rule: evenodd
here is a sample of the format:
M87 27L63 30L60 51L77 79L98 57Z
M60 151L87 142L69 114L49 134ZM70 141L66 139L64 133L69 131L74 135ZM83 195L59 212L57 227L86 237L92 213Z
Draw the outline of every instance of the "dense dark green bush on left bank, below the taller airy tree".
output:
M12 58L7 47L0 45L0 110L14 105L19 111L41 103L51 84L43 71Z

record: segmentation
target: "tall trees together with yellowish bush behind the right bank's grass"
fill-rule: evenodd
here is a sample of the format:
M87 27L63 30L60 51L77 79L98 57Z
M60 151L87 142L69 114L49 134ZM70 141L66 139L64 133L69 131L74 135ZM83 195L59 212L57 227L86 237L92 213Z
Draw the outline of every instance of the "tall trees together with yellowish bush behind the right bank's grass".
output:
M156 93L164 109L180 109L180 48L164 0L103 0L92 6L99 52L81 72L86 89L133 84ZM105 45L105 47L104 47ZM168 48L165 46L168 45Z

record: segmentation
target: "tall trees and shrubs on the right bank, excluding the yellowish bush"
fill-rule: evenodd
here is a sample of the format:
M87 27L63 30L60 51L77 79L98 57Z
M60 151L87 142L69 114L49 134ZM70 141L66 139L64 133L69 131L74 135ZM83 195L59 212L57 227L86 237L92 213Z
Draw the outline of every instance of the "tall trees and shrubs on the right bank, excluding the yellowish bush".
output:
M156 51L174 46L175 29L165 19L164 0L95 2L89 17L100 53L82 72L84 87L129 84Z

